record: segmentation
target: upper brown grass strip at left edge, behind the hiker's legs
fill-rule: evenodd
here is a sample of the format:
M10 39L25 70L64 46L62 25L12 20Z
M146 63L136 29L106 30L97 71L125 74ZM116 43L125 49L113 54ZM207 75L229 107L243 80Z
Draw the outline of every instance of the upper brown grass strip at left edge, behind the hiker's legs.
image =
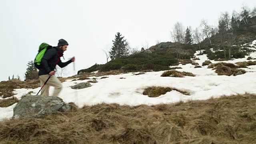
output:
M2 98L8 98L11 96L14 96L14 89L19 89L19 88L38 88L38 83L40 83L39 80L26 80L26 81L21 81L17 79L13 80L8 80L8 81L2 81L0 82L0 96Z

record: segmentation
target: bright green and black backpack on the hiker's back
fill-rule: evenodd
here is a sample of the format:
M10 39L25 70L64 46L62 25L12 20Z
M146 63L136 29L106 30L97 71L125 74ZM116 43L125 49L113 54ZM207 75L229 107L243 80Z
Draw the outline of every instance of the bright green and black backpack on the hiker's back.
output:
M36 66L36 68L38 68L38 66L41 64L41 60L42 60L46 50L49 50L50 48L52 48L52 46L50 46L49 44L47 44L45 42L40 44L38 54L36 55L36 58L34 60L34 65Z

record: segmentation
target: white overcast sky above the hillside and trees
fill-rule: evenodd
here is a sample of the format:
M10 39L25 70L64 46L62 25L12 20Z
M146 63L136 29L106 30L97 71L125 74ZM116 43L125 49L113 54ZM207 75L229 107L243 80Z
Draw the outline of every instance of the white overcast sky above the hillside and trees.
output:
M255 0L1 0L0 81L18 75L24 80L26 64L34 60L38 46L56 46L63 38L68 60L76 56L75 69L106 63L102 51L120 32L130 45L142 47L147 40L170 41L175 22L192 29L202 18L216 25L221 12L250 8ZM65 60L64 60L65 61ZM69 75L73 65L67 66Z

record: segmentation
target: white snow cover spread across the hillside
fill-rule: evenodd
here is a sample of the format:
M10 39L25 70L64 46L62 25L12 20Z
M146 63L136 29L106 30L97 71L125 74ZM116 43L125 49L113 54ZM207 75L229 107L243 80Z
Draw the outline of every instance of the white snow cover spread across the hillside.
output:
M253 44L255 43L256 40L253 41ZM256 53L254 52L250 54L250 56L256 58ZM200 60L195 60L195 62L198 62L201 66L205 60L208 60L206 55L196 57L200 58ZM248 58L248 56L225 62L235 63L248 61L246 58ZM217 63L213 60L211 60L211 62ZM246 92L256 93L256 66L248 66L248 68L244 68L244 70L247 71L246 74L238 76L218 76L214 70L207 68L207 66L194 68L192 64L180 64L179 67L182 67L182 69L176 70L192 72L196 76L186 76L185 78L160 77L164 71L146 72L141 75L133 75L132 73L110 75L108 76L109 78L104 79L98 77L98 83L91 83L91 87L80 90L73 90L70 86L80 82L87 82L88 80L77 80L73 82L72 80L66 80L66 82L63 82L64 88L59 97L62 98L64 102L75 102L79 107L101 102L135 106L139 104L152 105L172 103L180 100L205 100L210 97L216 98L222 95L244 94ZM120 79L121 77L125 79ZM174 87L180 90L186 90L190 92L191 95L187 96L177 91L171 91L157 98L150 98L142 94L144 88L147 86ZM15 96L20 99L22 95L27 94L30 91L33 91L34 94L36 94L39 90L40 88L23 88L16 89L14 93L16 93ZM53 90L54 88L51 87L50 94ZM13 104L7 108L0 108L0 120L3 118L11 118L15 106L16 104Z

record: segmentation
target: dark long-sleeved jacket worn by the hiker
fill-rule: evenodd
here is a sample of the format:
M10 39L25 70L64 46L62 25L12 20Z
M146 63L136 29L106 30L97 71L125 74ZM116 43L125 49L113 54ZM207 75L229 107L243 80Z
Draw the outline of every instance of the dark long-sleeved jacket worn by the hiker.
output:
M49 74L53 71L58 64L60 68L63 68L70 64L72 60L68 60L67 62L62 62L60 58L63 56L62 50L58 46L54 46L47 50L41 60L41 64L39 66L38 76Z

